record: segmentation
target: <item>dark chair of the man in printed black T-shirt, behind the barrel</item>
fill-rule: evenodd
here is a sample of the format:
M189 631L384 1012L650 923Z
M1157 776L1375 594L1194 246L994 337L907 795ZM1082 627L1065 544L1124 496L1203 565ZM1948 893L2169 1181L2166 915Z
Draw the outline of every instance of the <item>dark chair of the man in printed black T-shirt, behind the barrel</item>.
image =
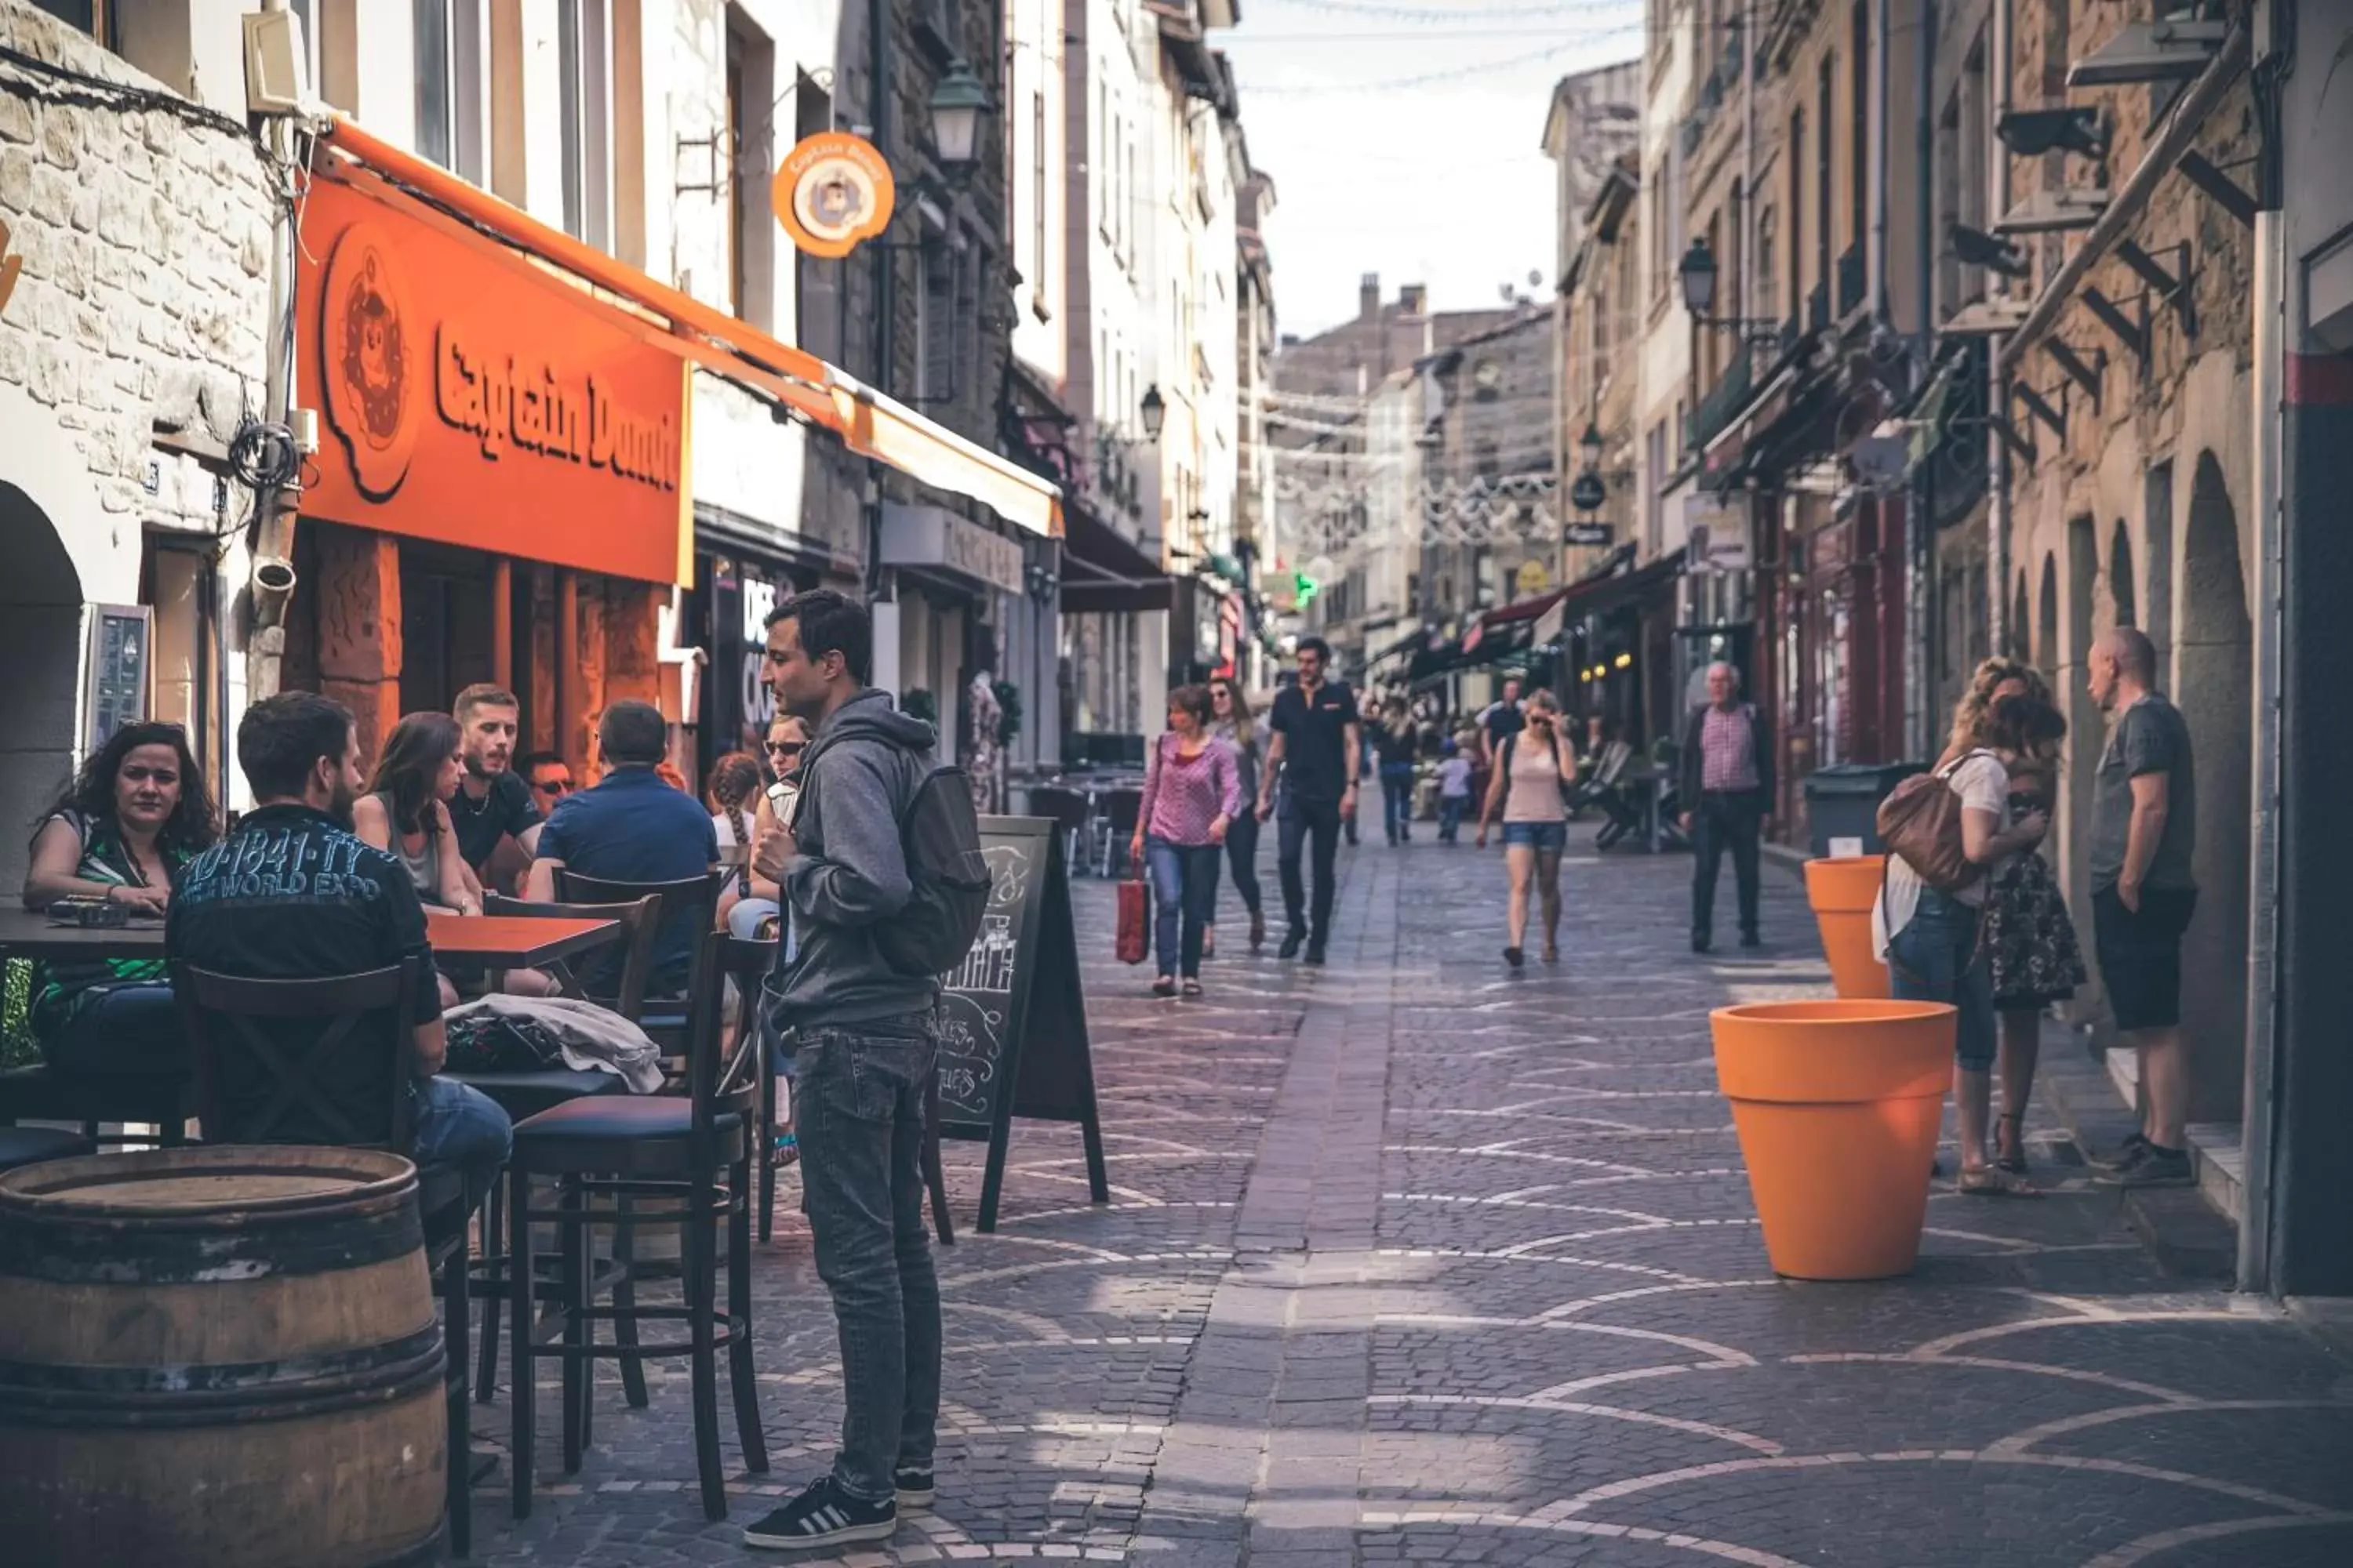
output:
M419 959L322 980L247 980L172 964L172 992L188 1027L195 1114L205 1143L332 1143L391 1150L407 1159L409 1084L416 1081L409 1001L428 985L433 976ZM391 1044L372 1063L376 1081L384 1084L384 1100L369 1114L353 1119L346 1107L325 1098L313 1077L322 1063L351 1060L353 1034L372 1020L379 1027L391 1025ZM287 1048L289 1034L301 1037L296 1048ZM292 1121L296 1114L301 1121ZM447 1509L449 1549L456 1556L473 1549L466 1222L482 1197L468 1192L456 1171L442 1166L416 1171L426 1260L433 1269L433 1293L442 1298L442 1389L449 1406Z

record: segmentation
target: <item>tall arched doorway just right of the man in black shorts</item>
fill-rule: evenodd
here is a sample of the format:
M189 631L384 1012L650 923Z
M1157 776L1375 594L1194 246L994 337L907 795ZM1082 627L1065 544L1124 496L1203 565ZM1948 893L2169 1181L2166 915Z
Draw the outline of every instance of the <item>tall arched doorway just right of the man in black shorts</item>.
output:
M2181 541L2174 703L2198 759L2198 917L2181 947L2191 1117L2238 1117L2247 1037L2247 811L2254 748L2254 628L2238 555L2238 508L2212 451L2191 475Z

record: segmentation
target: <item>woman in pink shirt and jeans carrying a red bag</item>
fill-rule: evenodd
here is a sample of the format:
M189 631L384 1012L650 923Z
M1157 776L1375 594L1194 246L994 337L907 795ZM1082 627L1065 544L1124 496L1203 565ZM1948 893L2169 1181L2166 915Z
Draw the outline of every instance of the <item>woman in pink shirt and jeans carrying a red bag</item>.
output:
M1200 933L1217 914L1217 865L1226 827L1240 809L1242 776L1233 748L1209 733L1209 689L1169 691L1169 731L1144 764L1144 809L1127 846L1129 856L1148 856L1153 870L1155 997L1176 994L1179 969L1184 994L1200 994Z

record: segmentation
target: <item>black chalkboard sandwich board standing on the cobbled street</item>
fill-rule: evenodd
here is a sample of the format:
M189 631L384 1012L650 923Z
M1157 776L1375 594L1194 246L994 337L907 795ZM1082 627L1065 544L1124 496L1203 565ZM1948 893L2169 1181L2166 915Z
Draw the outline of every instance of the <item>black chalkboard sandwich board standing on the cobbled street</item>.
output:
M995 875L988 914L965 961L941 976L939 1131L988 1140L979 1229L991 1232L1014 1117L1078 1121L1096 1204L1111 1201L1111 1178L1061 832L1042 816L984 816L981 853Z

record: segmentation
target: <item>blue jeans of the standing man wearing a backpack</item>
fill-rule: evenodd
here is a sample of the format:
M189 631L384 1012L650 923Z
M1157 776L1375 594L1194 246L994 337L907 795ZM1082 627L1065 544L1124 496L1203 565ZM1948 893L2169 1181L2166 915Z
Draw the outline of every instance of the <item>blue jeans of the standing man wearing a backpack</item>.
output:
M939 1425L939 1276L922 1225L922 1091L932 1013L805 1030L793 1051L800 1208L842 1340L842 1450L833 1483L892 1495L932 1469Z

